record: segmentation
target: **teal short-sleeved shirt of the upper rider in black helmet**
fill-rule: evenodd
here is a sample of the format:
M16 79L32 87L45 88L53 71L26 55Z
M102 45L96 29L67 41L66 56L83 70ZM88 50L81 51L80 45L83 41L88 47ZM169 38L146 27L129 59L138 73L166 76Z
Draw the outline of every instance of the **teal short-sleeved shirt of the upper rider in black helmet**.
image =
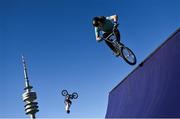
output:
M106 20L102 27L95 27L95 34L99 36L100 31L104 33L112 32L114 23L110 20L110 17L106 17Z

